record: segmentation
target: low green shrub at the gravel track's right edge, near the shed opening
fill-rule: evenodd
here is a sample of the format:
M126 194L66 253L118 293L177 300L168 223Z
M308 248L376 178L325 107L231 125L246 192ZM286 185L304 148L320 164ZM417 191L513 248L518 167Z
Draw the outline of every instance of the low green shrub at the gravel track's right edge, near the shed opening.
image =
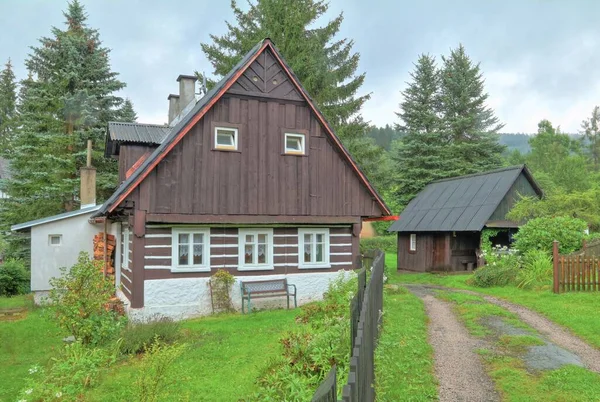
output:
M488 259L489 257L486 257ZM488 264L478 268L470 283L481 288L506 286L516 282L521 268L521 258L517 254L497 255Z

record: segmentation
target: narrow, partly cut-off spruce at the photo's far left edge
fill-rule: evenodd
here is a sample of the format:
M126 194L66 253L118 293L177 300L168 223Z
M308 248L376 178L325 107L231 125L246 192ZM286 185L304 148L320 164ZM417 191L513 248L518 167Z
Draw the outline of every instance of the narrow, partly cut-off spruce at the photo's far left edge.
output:
M0 71L0 156L10 146L17 113L17 81L10 59Z

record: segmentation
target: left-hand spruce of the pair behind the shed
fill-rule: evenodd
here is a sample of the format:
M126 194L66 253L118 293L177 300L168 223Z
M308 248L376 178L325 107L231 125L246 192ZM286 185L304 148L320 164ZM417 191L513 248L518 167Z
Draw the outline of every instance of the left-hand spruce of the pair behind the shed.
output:
M449 166L451 155L439 116L439 72L435 58L421 55L402 91L398 130L407 134L394 143L391 156L395 167L395 201L405 207L430 182L456 174Z

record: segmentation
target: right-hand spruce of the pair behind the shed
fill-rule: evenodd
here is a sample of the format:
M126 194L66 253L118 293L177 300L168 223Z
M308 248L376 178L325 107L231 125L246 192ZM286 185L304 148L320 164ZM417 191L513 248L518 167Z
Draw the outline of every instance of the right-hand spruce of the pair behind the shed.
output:
M500 167L504 147L498 131L504 126L486 105L488 94L479 64L471 61L463 45L442 56L440 112L448 151L462 173Z

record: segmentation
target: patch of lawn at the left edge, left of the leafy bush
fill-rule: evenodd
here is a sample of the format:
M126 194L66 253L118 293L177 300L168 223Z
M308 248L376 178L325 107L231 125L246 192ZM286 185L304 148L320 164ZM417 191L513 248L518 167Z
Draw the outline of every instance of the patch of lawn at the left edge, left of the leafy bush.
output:
M28 370L45 364L62 344L58 327L32 308L31 296L0 298L0 308L28 307L26 317L0 318L0 401L12 402L24 386Z

